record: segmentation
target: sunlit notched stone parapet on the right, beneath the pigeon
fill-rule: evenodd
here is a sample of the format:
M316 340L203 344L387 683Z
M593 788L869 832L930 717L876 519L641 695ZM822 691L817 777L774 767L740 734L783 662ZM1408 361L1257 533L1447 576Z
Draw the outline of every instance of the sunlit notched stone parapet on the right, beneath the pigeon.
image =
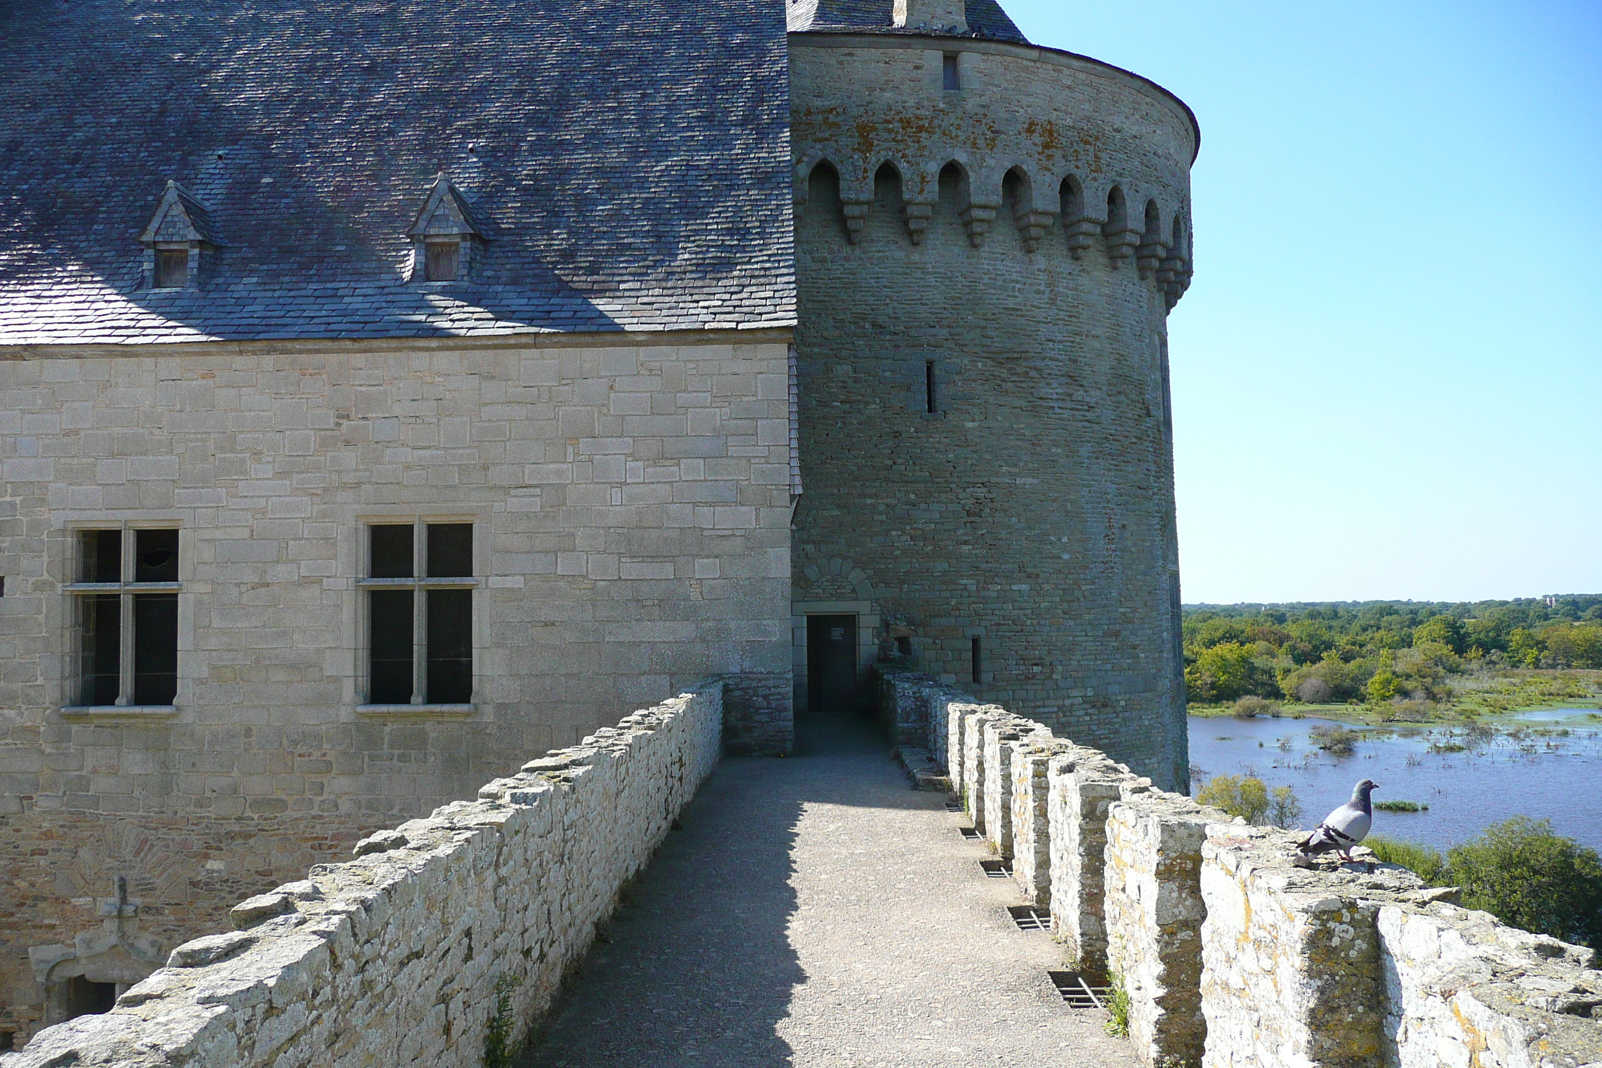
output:
M1456 908L1395 865L1299 866L1293 833L1155 789L928 676L878 685L897 737L931 740L908 765L960 786L1025 900L1049 903L1069 962L1121 983L1144 1063L1602 1068L1592 950Z

